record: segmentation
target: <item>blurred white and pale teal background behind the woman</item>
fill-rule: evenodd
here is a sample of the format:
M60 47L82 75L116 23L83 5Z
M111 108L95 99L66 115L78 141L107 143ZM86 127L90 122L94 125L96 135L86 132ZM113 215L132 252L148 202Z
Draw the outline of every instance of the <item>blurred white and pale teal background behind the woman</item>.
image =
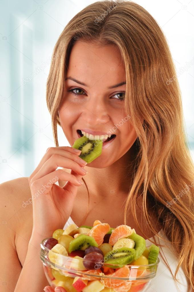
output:
M0 4L0 183L29 176L55 147L46 80L55 43L92 0L9 0ZM194 0L138 0L162 28L181 87L185 133L194 159ZM59 145L68 146L58 127Z

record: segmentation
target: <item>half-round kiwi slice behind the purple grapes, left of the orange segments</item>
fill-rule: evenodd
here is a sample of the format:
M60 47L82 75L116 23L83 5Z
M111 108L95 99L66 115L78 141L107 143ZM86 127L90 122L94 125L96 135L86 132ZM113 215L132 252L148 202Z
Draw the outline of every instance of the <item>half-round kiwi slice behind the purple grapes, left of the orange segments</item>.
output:
M89 246L98 247L98 244L93 237L80 234L78 237L71 240L69 244L69 253L71 253L71 251L77 250L85 251Z

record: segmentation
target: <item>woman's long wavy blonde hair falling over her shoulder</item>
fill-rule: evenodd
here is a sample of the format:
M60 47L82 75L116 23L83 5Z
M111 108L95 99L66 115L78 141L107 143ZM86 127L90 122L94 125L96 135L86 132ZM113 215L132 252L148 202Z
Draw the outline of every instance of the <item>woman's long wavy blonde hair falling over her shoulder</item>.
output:
M157 235L150 216L151 209L156 212L178 259L173 278L181 266L189 287L194 289L194 164L187 147L181 91L166 38L155 19L131 1L97 1L77 13L57 40L47 80L46 100L56 147L65 74L71 48L78 39L102 46L116 44L125 65L124 107L138 138L134 143L137 155L124 224L131 206L139 225L136 201L141 196L142 220Z

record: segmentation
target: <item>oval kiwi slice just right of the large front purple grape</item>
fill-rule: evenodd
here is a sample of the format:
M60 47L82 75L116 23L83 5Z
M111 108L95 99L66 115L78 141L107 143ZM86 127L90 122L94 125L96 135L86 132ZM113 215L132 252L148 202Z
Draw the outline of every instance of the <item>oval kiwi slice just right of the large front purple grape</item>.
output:
M116 269L116 267L122 268L124 265L130 264L134 260L134 257L134 248L122 247L118 251L114 250L106 253L104 256L104 264L106 264L106 267L113 269Z

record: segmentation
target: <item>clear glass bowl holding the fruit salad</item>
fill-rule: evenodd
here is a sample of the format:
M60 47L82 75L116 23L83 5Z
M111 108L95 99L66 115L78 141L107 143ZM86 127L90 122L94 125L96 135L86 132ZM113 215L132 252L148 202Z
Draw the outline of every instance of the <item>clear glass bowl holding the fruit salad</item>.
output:
M49 238L41 242L43 269L51 287L61 286L67 292L144 292L150 288L160 262L158 258L156 263L150 265L124 265L121 268L114 265L115 270L111 269L111 274L104 274L98 266L96 270L86 270L80 257L64 256L52 251L53 259L50 261L50 249L44 246ZM106 264L103 267L108 269Z

